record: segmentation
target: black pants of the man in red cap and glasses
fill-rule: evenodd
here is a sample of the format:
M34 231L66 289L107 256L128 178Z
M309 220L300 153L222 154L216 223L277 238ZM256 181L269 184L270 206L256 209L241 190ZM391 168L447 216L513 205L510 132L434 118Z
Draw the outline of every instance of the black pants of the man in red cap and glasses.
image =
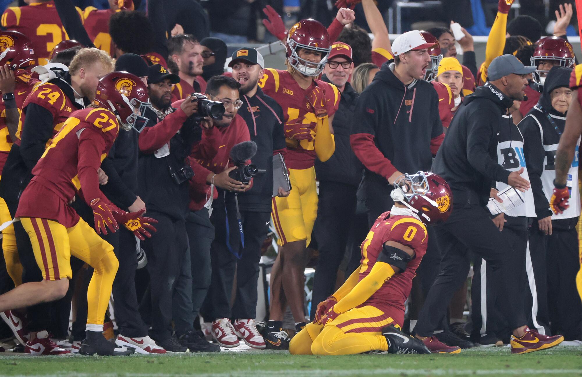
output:
M335 291L339 264L346 254L347 240L354 225L356 191L357 187L350 184L320 182L320 201L314 226L319 258L313 279L312 321L317 305Z

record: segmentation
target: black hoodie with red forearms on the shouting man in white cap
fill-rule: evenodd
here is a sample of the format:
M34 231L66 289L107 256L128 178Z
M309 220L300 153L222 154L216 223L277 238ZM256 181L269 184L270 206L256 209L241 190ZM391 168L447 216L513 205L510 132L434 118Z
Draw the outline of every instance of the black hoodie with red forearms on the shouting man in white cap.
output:
M404 85L393 68L382 65L354 109L350 144L374 179L430 170L444 138L437 91L423 80Z

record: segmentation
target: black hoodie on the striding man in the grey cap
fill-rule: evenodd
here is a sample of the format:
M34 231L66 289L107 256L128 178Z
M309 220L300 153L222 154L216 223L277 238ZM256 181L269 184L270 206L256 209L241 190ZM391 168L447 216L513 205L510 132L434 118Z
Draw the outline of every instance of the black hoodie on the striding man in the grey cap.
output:
M509 171L497 162L497 145L507 122L503 115L512 105L489 82L463 99L432 164L453 190L453 202L485 206L492 184L508 183Z

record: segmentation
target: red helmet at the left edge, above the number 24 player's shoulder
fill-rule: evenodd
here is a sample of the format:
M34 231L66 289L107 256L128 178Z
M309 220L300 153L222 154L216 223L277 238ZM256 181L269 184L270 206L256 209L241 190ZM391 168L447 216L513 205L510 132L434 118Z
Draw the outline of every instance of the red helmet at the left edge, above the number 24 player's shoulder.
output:
M29 37L18 31L0 31L0 65L24 69L35 64L34 49Z

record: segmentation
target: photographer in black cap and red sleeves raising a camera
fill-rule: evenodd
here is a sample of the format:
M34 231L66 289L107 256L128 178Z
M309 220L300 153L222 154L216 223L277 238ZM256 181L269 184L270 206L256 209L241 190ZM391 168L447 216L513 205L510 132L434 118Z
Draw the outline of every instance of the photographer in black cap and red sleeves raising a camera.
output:
M150 287L140 311L144 319L148 318L144 314L150 314L152 339L170 352L185 352L187 348L198 350L199 346L190 342L194 318L173 315L178 307L186 307L186 313L192 312L191 270L183 267L190 265L186 235L187 182L194 172L186 158L193 149L201 156L212 157L218 147L218 133L208 118L199 122L204 129L201 138L191 122L187 122L197 113L198 101L188 99L179 108L170 105L171 86L178 80L179 77L169 74L161 65L150 67L148 93L152 109L148 109L145 116L154 126L145 127L139 136L138 193L145 202L148 216L158 220L159 229L143 243ZM197 140L201 141L194 147ZM172 335L172 319L180 342Z

